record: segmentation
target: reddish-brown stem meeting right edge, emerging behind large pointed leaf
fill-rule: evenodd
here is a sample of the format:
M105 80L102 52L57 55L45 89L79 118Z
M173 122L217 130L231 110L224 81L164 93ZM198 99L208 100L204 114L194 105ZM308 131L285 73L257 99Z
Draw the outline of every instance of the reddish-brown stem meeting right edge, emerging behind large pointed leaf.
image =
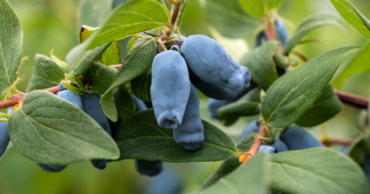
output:
M337 89L334 89L334 92L337 94L340 101L346 104L355 106L357 108L363 108L363 109L367 109L367 106L369 105L369 99L364 98L362 96L349 93L349 92L340 91Z

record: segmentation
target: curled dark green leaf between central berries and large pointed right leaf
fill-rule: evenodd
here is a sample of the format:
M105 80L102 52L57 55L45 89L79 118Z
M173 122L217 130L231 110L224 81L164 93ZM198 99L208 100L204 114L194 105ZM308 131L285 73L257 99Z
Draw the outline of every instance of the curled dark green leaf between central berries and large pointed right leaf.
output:
M238 101L221 106L218 116L223 125L232 125L240 116L257 115L260 112L260 88L254 88L238 99Z

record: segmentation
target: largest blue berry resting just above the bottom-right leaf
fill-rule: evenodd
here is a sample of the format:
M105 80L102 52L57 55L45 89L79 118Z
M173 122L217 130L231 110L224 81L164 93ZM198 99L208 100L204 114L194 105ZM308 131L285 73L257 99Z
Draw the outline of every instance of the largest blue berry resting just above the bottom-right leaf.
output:
M309 132L299 126L291 126L281 133L282 140L289 150L303 150L312 147L324 147L324 145Z

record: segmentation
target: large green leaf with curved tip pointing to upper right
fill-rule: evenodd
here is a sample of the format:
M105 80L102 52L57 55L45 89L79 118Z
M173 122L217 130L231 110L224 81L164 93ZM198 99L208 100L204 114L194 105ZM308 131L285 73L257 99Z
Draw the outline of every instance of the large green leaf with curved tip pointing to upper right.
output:
M360 47L326 52L274 82L262 102L261 113L273 127L287 127L310 108L332 79L343 59Z

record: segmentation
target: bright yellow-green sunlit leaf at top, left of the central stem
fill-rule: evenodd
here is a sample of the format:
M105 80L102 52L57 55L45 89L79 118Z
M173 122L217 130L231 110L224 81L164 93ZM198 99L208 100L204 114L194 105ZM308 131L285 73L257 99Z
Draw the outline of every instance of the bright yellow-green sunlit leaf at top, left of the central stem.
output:
M154 0L129 1L112 11L101 28L87 40L87 49L161 26L172 28L161 3Z

